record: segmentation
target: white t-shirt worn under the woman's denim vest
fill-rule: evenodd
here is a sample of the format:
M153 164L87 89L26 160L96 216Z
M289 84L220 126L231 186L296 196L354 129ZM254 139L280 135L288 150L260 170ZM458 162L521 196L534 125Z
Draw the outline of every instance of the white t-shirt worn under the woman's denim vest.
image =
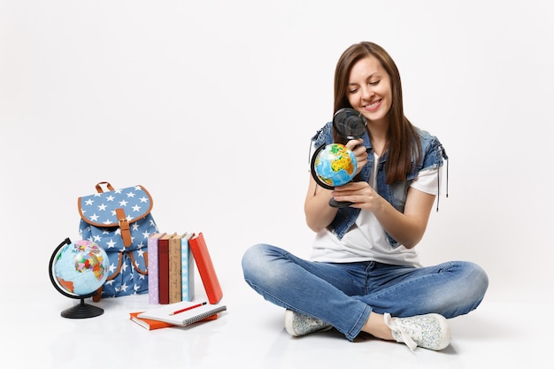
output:
M375 155L374 165L379 163ZM374 168L373 168L374 169ZM410 187L431 195L438 193L437 171L442 167L420 171ZM375 170L369 184L375 188ZM441 173L439 173L441 174ZM372 211L362 210L350 230L339 240L327 228L316 234L312 244L312 261L330 263L352 263L358 261L377 261L392 265L421 266L415 248L406 249L403 245L393 248L387 240L385 230Z

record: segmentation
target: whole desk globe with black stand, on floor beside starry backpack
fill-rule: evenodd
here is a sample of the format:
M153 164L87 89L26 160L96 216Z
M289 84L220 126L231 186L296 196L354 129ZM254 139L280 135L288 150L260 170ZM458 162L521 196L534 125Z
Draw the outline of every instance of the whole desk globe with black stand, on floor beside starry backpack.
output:
M108 254L95 242L66 238L52 253L49 265L50 281L64 296L80 299L81 303L61 312L71 319L93 318L104 310L85 304L85 298L95 296L96 290L108 278Z

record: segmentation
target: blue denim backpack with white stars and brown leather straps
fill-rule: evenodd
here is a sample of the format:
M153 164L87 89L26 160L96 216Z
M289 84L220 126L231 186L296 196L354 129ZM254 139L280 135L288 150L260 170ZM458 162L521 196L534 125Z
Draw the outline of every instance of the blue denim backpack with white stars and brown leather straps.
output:
M108 278L93 301L148 293L147 241L158 232L152 205L150 193L140 185L114 189L99 182L96 194L79 197L81 239L96 242L110 259Z

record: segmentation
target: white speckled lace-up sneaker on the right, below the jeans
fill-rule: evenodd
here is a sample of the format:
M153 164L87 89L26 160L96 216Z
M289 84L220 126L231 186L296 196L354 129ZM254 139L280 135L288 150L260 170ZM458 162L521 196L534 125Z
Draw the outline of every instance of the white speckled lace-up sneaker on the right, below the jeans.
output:
M404 342L412 351L418 346L442 350L450 344L450 326L439 314L392 318L389 313L385 313L385 324L389 326L396 342Z

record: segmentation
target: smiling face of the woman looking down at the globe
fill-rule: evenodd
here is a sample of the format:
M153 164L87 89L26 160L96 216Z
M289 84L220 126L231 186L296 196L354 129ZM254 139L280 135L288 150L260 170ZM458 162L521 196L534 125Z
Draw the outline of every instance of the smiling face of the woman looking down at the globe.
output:
M368 121L387 122L392 106L390 77L377 58L370 55L352 65L346 95Z

